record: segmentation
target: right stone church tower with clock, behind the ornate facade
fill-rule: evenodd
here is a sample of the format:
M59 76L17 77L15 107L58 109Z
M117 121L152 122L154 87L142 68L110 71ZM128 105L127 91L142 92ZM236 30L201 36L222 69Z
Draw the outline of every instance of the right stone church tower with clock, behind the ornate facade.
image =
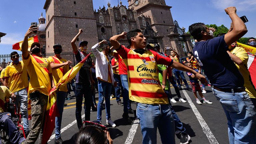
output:
M171 6L167 6L165 0L128 0L128 7L151 18L151 27L158 33L158 36L170 34L169 26L174 28L174 22L170 11ZM170 39L163 37L164 47L171 47Z

